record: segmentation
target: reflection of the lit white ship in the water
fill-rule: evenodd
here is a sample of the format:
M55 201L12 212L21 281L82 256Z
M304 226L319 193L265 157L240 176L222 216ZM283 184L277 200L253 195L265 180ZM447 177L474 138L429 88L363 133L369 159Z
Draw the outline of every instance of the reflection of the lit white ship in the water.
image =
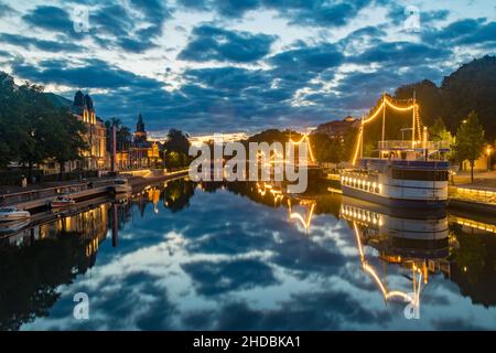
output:
M375 280L386 301L399 299L412 306L417 319L423 287L429 284L429 274L450 265L448 216L431 217L425 213L398 214L392 210L344 196L342 217L348 220L356 235L362 268ZM390 214L388 214L388 212ZM388 264L398 264L410 270L409 291L389 289L386 274L382 278L365 255L364 244L378 250L379 258Z

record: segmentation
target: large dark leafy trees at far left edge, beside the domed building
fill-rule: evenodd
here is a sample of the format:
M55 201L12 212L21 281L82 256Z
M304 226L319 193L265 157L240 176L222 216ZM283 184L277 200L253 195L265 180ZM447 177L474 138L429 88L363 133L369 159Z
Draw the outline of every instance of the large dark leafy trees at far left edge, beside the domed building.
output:
M55 107L43 87L25 83L18 87L0 74L0 167L9 162L28 165L47 158L79 159L87 146L85 127L66 107Z

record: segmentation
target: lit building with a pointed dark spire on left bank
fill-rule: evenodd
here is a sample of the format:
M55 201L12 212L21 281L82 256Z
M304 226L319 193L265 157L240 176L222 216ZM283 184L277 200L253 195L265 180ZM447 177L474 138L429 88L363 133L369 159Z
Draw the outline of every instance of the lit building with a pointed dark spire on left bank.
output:
M160 142L148 140L143 116L140 113L132 145L129 150L129 165L132 169L160 167L162 164L160 149ZM118 159L116 158L116 160Z

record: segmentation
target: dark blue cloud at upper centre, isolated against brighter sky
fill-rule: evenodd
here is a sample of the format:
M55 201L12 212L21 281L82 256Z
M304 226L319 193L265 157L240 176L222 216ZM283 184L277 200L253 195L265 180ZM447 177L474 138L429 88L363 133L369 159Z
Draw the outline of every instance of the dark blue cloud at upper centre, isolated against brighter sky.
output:
M233 32L206 24L195 28L192 34L177 56L180 60L252 62L266 56L276 40L272 35Z

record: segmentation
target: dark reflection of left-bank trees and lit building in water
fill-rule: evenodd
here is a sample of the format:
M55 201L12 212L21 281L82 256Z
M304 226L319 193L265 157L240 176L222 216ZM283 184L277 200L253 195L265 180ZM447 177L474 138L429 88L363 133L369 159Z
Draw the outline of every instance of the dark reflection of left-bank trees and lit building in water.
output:
M18 330L48 314L56 288L95 265L107 235L107 204L2 238L0 329Z

